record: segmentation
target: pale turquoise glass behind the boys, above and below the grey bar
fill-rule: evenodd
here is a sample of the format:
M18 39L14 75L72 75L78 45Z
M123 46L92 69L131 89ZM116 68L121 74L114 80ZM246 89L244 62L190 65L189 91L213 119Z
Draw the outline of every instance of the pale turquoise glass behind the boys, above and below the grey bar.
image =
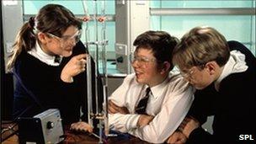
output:
M159 0L151 1L151 8L255 8L255 0ZM179 38L195 26L208 25L219 30L227 40L238 40L255 50L255 15L179 15L151 16L151 29L167 30Z

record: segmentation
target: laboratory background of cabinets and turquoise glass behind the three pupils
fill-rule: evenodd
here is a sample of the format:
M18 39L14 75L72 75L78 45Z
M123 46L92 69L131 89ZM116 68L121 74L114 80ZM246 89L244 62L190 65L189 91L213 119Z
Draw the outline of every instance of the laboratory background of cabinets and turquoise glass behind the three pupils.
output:
M8 56L19 28L48 3L61 4L83 22L82 42L107 80L107 95L133 72L130 54L137 35L163 30L179 39L196 26L217 29L227 40L255 49L255 0L2 0L1 1L1 119L11 120L12 73L6 71ZM104 18L104 22L99 21ZM98 21L97 21L98 19ZM96 43L96 44L95 44ZM175 69L174 69L175 71ZM212 118L204 125L211 131Z

